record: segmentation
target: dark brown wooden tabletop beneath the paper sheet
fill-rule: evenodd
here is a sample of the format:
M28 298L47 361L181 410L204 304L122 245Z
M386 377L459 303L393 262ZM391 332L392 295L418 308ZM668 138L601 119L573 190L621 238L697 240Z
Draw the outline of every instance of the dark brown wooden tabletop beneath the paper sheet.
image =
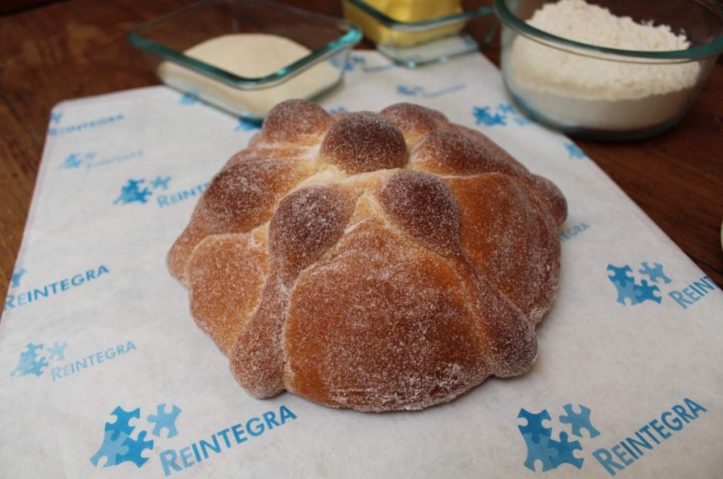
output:
M0 17L1 291L7 291L20 247L51 108L69 98L157 83L125 36L134 25L188 3L68 0ZM338 1L286 3L341 14ZM498 48L484 54L498 62ZM674 130L638 143L578 143L723 285L722 64Z

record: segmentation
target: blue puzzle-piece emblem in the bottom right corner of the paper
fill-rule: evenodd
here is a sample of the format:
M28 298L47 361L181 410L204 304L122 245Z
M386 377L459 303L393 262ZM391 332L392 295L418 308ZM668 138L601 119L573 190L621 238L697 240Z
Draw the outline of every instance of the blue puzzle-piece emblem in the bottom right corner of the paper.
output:
M582 430L587 431L589 438L599 436L600 432L592 425L590 420L591 410L582 404L578 405L580 412L573 409L572 404L565 404L563 409L565 415L560 415L560 423L570 427L570 433L578 438L583 437ZM527 446L527 457L524 465L531 471L536 471L537 463L542 462L542 471L557 469L561 465L568 464L581 469L585 459L576 457L576 451L582 451L580 441L570 441L570 436L565 431L560 431L557 439L553 438L552 428L544 425L544 421L551 420L549 412L542 410L536 414L520 410L517 417L524 418L527 423L518 425L518 429L525 439Z

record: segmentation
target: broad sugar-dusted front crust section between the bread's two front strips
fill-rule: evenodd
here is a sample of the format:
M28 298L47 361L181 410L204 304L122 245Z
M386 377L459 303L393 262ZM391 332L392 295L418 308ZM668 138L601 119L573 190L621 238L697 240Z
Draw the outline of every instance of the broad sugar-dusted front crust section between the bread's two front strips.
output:
M301 275L284 339L288 389L329 406L422 409L489 375L454 269L375 222Z

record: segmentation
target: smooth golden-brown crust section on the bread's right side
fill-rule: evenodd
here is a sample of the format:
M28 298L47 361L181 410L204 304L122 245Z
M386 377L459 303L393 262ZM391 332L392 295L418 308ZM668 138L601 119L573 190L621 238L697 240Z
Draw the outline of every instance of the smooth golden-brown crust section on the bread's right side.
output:
M549 215L515 177L486 174L448 178L445 183L459 205L466 258L523 313L539 321L557 289L557 225L547 221Z

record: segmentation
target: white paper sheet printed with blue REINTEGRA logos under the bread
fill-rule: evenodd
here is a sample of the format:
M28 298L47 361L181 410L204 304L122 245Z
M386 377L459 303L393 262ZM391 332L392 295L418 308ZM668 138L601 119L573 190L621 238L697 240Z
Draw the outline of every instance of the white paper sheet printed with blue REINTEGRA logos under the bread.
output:
M568 138L511 109L484 57L410 70L355 52L322 104L399 101L479 128L568 199L560 293L529 373L422 412L249 397L164 260L253 127L164 87L67 101L51 114L0 323L0 477L720 477L714 283ZM609 265L630 267L625 304ZM159 404L181 412L156 422ZM574 427L566 404L589 408L594 429ZM523 409L550 419L525 427Z

